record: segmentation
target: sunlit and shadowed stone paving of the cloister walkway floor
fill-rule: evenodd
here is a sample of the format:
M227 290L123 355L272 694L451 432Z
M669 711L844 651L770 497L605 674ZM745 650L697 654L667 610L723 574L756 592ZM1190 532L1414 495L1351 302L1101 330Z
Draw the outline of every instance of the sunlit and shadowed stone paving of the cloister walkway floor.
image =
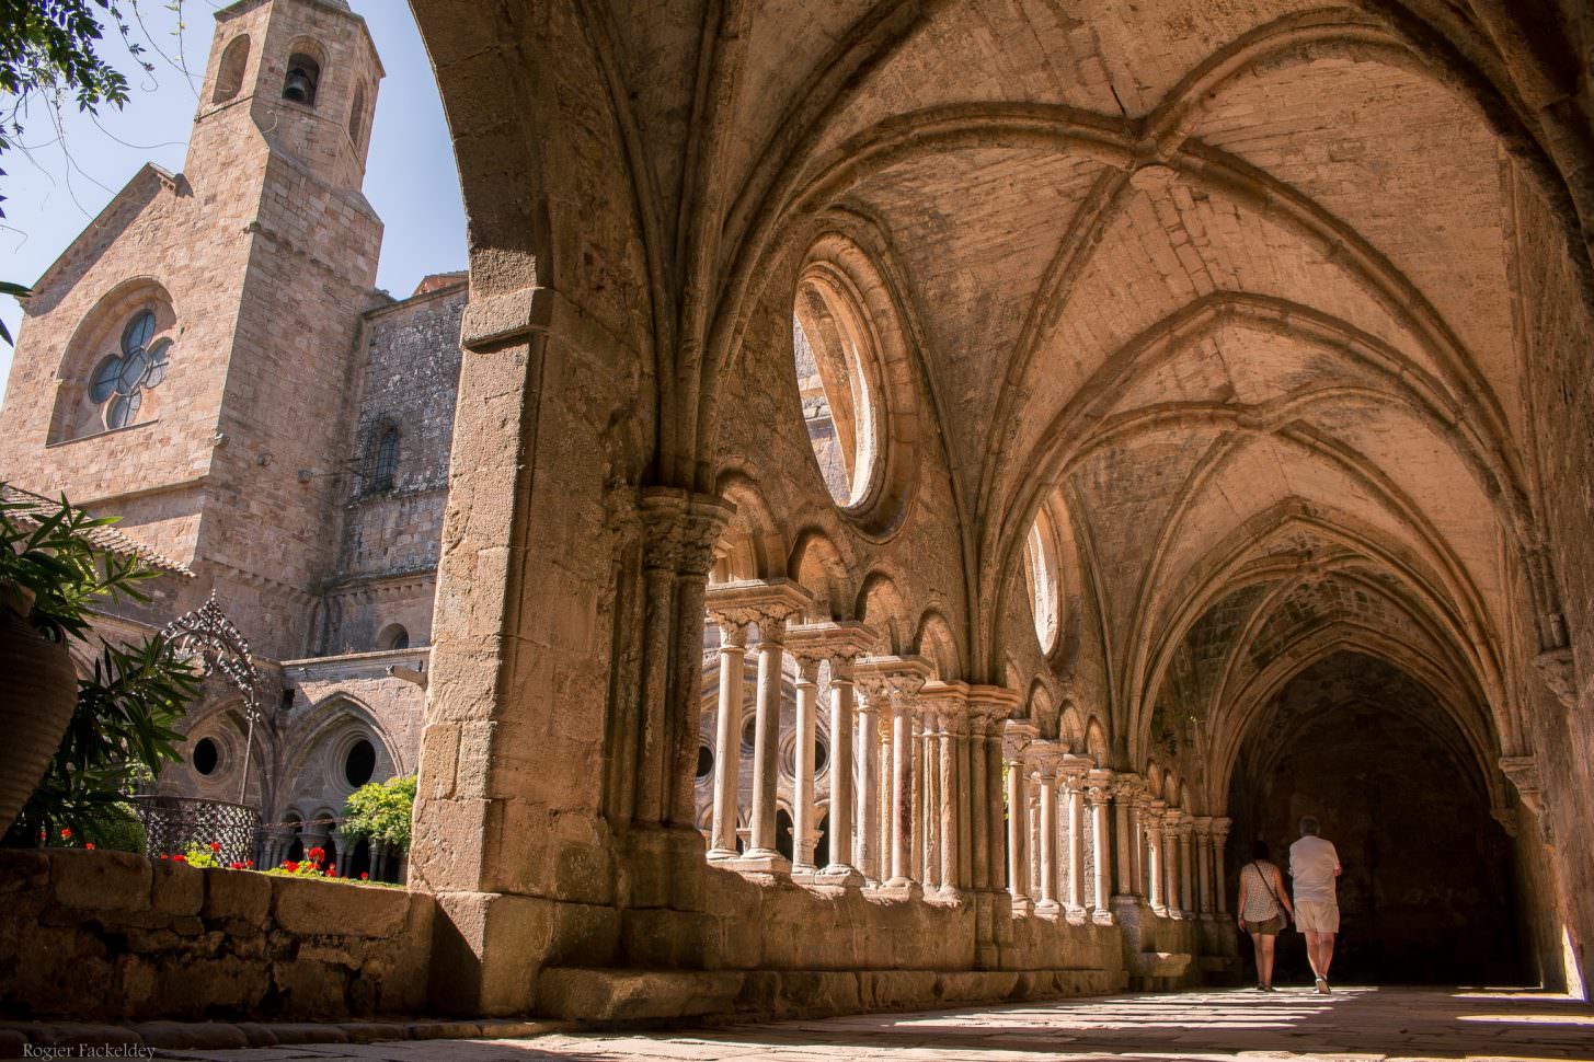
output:
M1309 989L1124 995L669 1033L550 1033L253 1051L163 1051L204 1062L1004 1062L1047 1059L1591 1059L1594 1008L1489 989Z

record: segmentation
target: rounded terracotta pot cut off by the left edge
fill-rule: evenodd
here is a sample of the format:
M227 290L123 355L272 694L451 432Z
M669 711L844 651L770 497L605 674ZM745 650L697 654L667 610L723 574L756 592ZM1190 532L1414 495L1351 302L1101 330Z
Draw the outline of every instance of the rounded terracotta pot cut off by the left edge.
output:
M11 828L61 747L78 699L67 643L51 642L10 608L0 608L0 833Z

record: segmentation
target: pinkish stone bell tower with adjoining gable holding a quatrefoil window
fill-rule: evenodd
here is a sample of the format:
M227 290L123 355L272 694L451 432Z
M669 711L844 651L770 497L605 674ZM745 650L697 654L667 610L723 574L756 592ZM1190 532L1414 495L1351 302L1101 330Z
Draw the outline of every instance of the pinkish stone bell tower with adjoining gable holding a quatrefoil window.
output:
M0 409L0 478L67 494L186 565L303 656L346 490L381 61L344 0L239 0L182 174L145 166L33 285Z

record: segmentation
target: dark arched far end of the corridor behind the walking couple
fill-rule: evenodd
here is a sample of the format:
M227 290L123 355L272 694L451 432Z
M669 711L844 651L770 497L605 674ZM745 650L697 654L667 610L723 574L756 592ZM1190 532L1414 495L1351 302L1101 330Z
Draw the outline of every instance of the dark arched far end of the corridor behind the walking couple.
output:
M1296 823L1321 820L1344 866L1333 981L1525 981L1511 839L1460 726L1404 670L1339 653L1286 683L1245 739L1229 809L1231 893L1256 837L1288 882ZM1301 933L1277 949L1275 981L1309 984Z

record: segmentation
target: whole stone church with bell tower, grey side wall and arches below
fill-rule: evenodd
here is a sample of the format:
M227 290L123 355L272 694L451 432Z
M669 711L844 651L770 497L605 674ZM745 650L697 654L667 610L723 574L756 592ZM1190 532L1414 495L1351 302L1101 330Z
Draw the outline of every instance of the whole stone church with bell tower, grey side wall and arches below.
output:
M465 291L375 290L381 78L344 3L220 11L183 172L143 167L33 285L0 408L0 478L180 568L107 634L215 594L249 638L253 734L207 685L158 791L257 807L273 860L338 852L347 793L418 767Z

